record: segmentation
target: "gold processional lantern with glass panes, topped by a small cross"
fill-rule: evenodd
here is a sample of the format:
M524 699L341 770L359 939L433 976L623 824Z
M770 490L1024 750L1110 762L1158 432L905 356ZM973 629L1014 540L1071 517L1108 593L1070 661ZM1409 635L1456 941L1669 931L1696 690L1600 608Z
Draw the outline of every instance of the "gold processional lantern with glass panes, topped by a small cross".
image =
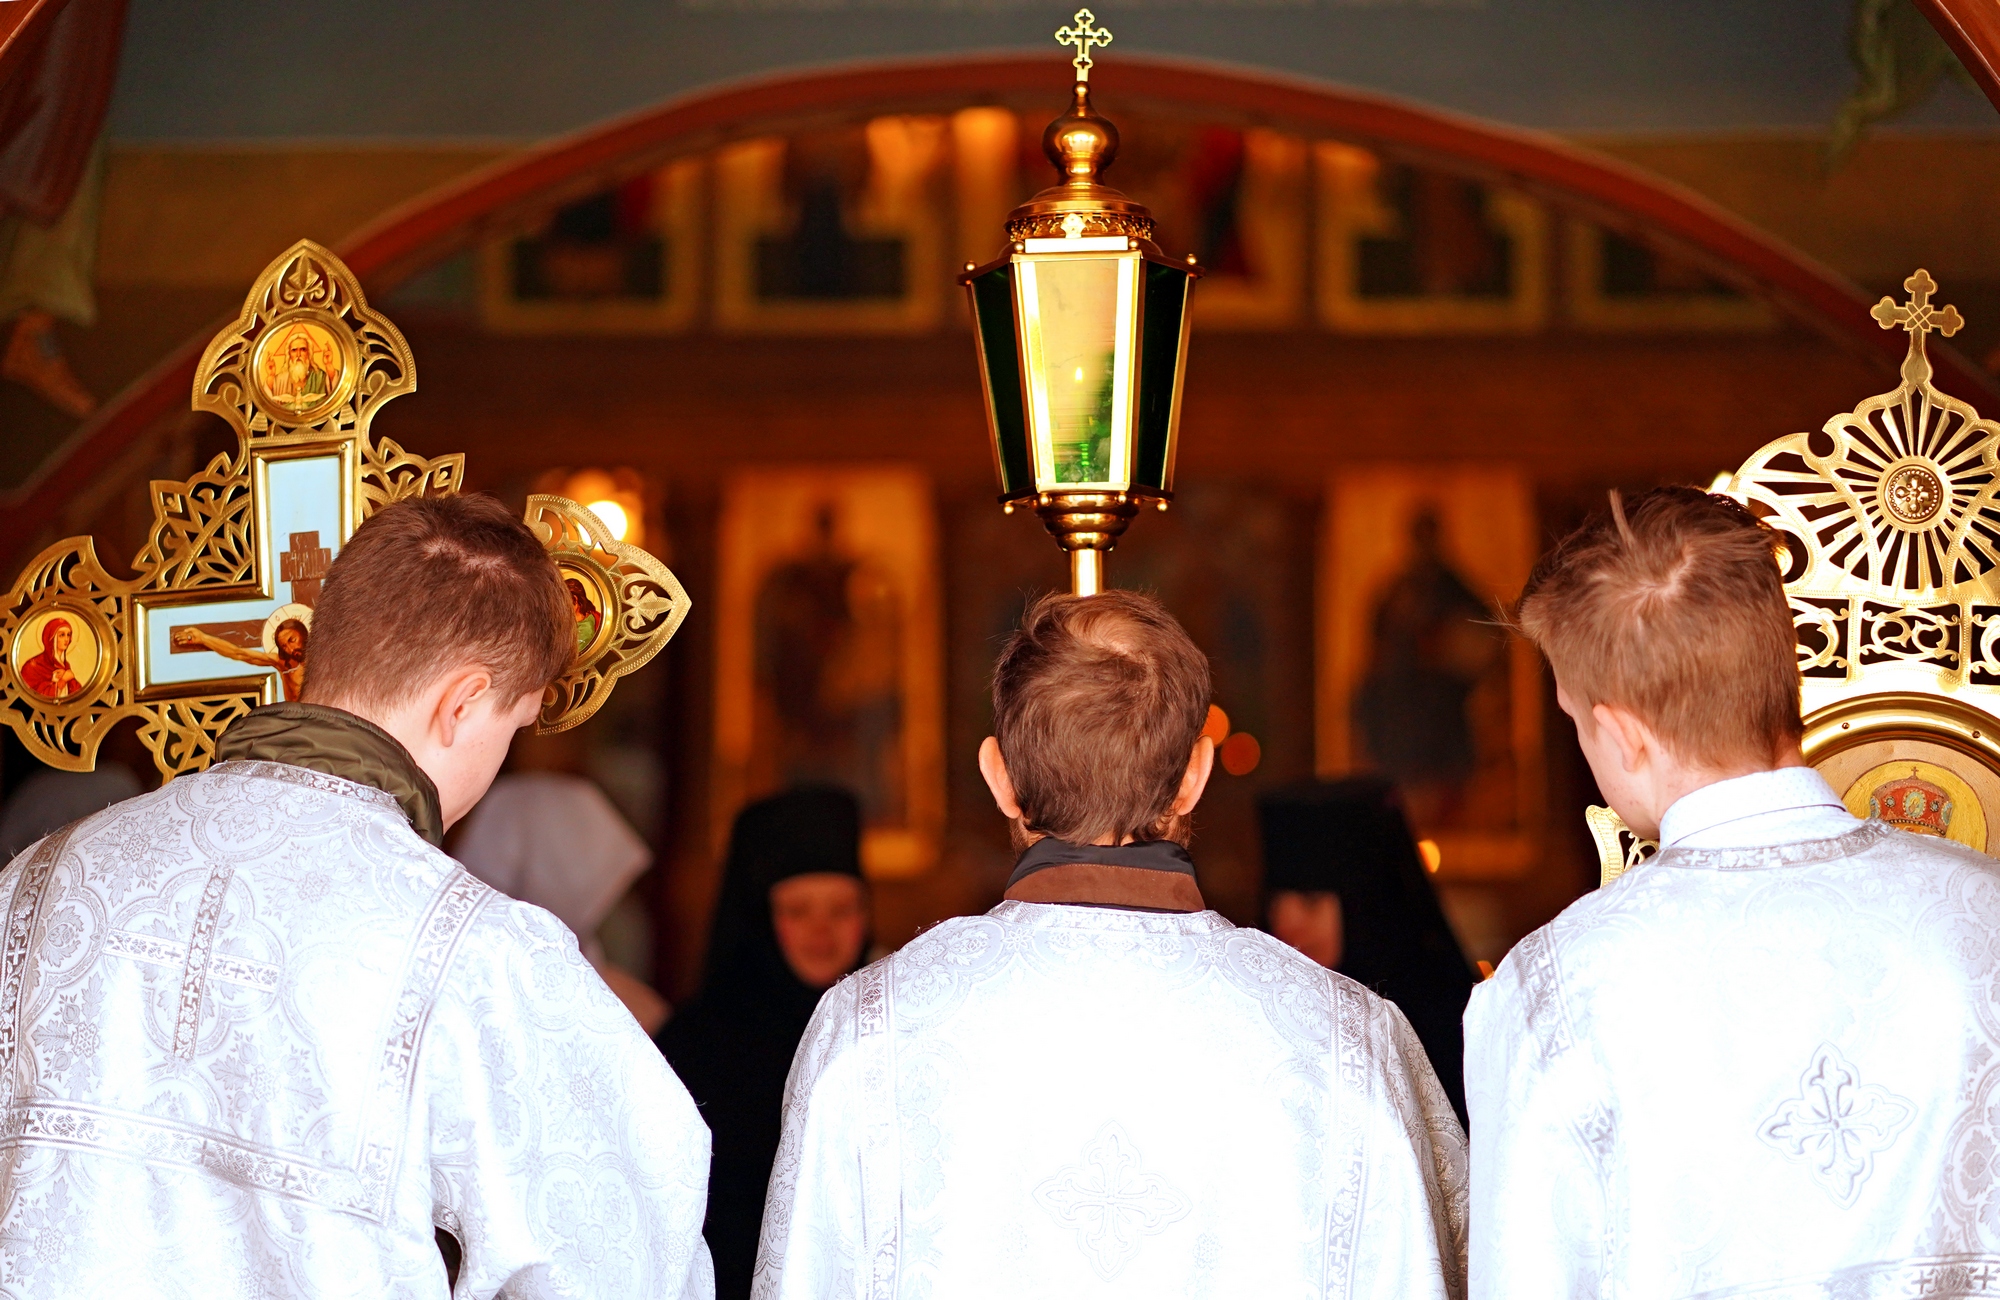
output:
M1104 586L1104 552L1174 498L1174 442L1200 270L1152 242L1152 212L1100 182L1118 130L1090 106L1090 50L1112 34L1076 10L1076 94L1042 132L1060 182L1008 214L1008 248L958 278L972 298L986 422L1010 514L1034 506L1070 552L1070 590Z

